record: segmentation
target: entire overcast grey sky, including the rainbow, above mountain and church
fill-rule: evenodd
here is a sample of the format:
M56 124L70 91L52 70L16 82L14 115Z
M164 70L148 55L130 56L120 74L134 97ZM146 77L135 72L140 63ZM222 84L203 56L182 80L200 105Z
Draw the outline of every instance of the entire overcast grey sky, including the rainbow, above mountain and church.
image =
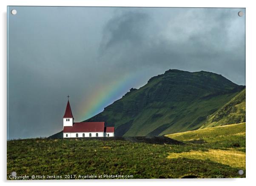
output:
M16 15L10 14L12 9ZM245 85L242 8L9 7L8 138L63 128L168 69Z

